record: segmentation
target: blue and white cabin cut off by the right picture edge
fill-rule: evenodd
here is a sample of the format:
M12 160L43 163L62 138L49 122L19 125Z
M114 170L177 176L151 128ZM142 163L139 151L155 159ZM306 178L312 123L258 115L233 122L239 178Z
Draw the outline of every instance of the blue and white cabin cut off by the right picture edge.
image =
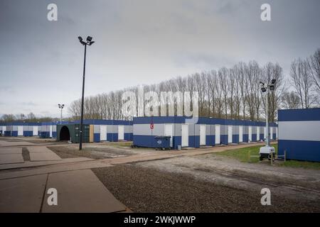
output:
M320 108L278 111L278 154L320 162Z

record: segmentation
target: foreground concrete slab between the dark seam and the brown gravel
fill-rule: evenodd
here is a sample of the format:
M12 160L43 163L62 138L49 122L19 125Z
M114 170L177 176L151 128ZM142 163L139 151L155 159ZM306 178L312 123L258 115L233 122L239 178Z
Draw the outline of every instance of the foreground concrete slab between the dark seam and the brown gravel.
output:
M91 170L50 174L46 189L58 191L58 206L49 206L46 194L42 212L119 212L121 204Z

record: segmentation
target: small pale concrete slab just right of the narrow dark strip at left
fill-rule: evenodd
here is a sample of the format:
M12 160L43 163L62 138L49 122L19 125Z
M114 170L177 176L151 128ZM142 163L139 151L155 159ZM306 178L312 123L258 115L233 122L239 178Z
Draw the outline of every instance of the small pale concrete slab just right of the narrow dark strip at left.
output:
M28 147L27 149L32 162L61 160L61 157L45 146Z

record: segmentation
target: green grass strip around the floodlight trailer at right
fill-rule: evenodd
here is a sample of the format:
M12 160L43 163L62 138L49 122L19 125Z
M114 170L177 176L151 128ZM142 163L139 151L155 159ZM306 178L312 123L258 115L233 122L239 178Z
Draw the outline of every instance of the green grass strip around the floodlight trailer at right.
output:
M272 145L277 153L278 145L273 144ZM259 148L261 148L262 145L254 146L250 148L240 148L236 150L225 150L220 153L215 153L215 155L223 155L225 157L232 157L237 160L240 160L240 162L250 162L250 163L256 163L259 162L259 157L250 157L249 155L259 155ZM297 161L297 160L287 160L286 162L283 161L275 161L275 164L277 166L284 166L284 167L298 167L298 168L305 168L305 169L316 169L320 170L320 162L304 162L304 161Z

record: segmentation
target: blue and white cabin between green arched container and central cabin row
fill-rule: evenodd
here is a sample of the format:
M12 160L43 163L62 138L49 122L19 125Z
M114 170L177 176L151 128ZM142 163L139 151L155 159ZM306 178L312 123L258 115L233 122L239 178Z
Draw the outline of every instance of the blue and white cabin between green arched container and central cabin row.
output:
M80 121L75 121L80 123ZM84 124L93 125L94 142L117 142L119 140L132 140L132 121L122 120L84 120Z

